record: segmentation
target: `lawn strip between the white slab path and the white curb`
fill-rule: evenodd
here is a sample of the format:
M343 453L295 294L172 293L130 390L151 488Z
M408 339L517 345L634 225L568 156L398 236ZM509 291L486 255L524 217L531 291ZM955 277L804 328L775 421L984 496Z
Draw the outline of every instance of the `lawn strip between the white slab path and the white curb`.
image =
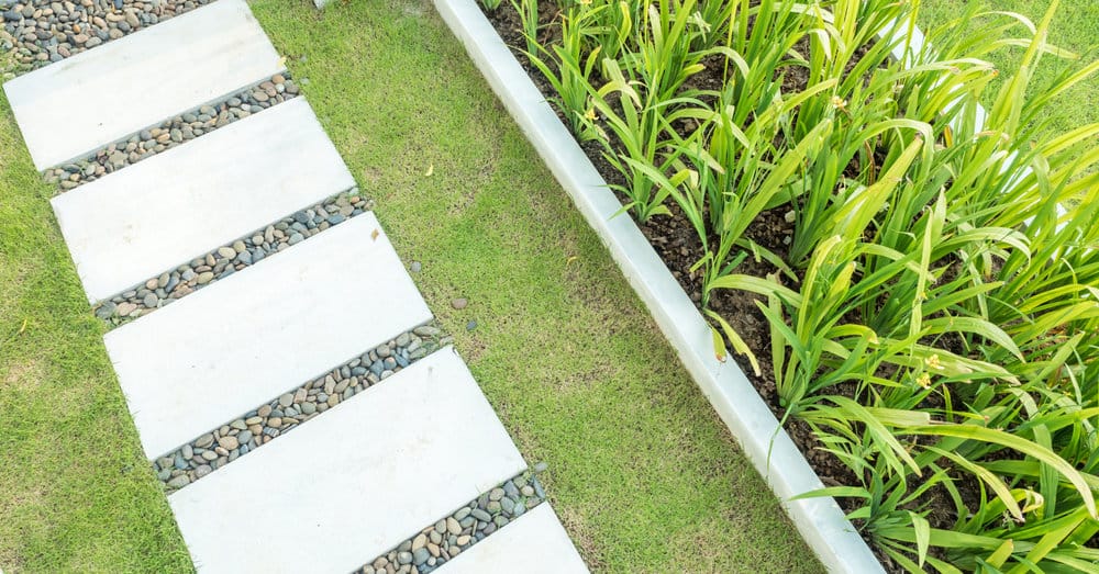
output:
M430 2L252 8L590 566L821 571Z

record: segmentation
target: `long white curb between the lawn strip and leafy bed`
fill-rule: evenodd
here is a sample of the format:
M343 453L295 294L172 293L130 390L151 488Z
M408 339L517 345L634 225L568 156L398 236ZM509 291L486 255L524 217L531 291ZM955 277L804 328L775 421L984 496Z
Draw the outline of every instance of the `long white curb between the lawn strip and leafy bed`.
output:
M596 230L748 460L830 572L884 572L824 484L734 361L712 352L710 326L629 216L475 0L433 0L531 144Z

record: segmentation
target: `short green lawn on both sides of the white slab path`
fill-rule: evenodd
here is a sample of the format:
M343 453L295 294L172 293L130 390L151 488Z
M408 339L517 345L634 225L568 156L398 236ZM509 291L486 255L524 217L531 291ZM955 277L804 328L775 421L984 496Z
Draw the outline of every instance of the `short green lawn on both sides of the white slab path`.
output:
M428 0L252 7L593 570L821 571ZM0 567L187 571L48 196L2 101Z

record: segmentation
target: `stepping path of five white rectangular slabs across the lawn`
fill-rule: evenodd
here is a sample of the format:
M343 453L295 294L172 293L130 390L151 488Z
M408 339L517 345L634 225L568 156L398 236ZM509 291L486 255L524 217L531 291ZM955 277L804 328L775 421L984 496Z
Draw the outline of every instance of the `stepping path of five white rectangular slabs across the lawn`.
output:
M284 71L243 0L112 38L4 85L40 170ZM586 572L374 214L285 223L347 190L297 98L52 201L90 303L204 285L104 336L196 567ZM206 270L276 222L308 238Z

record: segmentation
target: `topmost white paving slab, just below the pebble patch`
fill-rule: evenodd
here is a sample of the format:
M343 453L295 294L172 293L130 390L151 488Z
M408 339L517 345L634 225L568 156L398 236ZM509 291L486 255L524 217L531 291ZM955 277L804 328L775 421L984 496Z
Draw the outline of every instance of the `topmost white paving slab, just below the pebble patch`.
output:
M243 0L220 0L4 83L40 170L281 71Z

